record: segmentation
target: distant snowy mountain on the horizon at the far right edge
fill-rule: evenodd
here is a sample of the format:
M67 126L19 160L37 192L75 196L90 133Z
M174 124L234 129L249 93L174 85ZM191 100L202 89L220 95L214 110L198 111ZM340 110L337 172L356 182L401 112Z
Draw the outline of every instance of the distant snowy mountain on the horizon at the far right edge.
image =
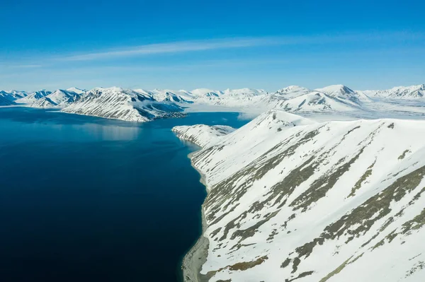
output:
M371 97L388 99L419 99L425 96L425 84L417 86L397 86L387 90L358 91Z

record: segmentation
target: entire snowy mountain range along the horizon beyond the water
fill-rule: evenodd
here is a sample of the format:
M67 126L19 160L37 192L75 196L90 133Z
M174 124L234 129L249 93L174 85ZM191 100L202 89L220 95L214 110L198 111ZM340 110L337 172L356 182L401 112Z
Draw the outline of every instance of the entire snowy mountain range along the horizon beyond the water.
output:
M294 113L344 112L373 117L370 112L425 113L425 85L398 86L387 90L352 90L344 85L311 90L288 86L276 92L250 88L210 90L144 90L120 87L0 91L1 106L57 108L62 112L96 117L147 122L179 116L185 110L202 111L205 107L222 111L255 112L278 109ZM407 107L407 108L406 108ZM350 114L348 114L350 115Z

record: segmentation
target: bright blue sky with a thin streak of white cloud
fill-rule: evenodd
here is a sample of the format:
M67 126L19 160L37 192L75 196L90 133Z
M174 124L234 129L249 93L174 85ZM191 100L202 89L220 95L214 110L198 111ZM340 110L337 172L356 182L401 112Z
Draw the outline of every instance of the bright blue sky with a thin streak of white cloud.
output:
M0 89L425 83L423 1L346 2L3 0Z

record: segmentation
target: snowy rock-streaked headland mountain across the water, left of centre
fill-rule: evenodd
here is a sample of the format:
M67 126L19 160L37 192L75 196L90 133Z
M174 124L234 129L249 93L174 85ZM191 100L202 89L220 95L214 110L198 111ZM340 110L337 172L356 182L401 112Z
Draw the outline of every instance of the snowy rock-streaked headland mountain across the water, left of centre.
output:
M147 122L159 117L178 116L182 108L174 103L157 102L150 95L113 87L89 90L62 111L132 122Z

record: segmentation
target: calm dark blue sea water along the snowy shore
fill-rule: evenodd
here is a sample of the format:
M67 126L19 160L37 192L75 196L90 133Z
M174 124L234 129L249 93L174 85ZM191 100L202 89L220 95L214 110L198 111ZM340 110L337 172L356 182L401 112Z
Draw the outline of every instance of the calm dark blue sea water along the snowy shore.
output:
M247 120L192 113L142 124L0 109L0 281L180 281L205 187L171 127Z

